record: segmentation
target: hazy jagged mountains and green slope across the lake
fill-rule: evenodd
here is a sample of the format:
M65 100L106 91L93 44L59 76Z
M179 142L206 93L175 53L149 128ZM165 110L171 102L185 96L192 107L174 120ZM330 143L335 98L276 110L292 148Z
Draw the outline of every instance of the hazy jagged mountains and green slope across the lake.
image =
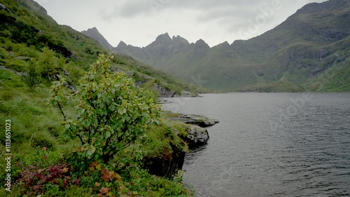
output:
M202 40L162 34L145 48L120 43L113 50L188 82L200 78L215 90L283 79L309 91L350 91L350 78L332 72L349 72L349 35L350 1L330 0L307 4L265 34L231 45L209 48Z

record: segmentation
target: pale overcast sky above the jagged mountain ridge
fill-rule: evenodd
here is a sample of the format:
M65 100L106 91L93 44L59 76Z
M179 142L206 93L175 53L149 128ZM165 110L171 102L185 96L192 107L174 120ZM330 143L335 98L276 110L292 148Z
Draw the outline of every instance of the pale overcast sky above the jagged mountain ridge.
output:
M302 6L325 0L35 0L61 25L97 27L117 46L147 46L168 32L209 46L250 39L276 27Z

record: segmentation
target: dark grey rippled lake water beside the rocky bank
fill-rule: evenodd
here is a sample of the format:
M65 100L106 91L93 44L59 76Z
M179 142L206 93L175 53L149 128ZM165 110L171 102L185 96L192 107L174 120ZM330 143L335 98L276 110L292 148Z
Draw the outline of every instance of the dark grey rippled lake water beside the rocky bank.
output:
M228 93L163 109L220 123L186 156L197 196L350 196L349 93Z

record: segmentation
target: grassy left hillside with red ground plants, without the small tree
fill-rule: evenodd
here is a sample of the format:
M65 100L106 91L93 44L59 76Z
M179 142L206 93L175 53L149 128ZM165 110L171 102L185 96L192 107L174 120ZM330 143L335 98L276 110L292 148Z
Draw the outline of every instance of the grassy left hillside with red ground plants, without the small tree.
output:
M34 1L4 0L1 4L6 9L0 10L0 123L5 126L10 121L10 147L6 147L3 133L0 153L2 158L9 152L12 155L10 171L4 159L0 162L3 185L0 196L191 195L183 186L181 172L158 177L144 168L144 158L170 162L176 154L187 150L187 145L176 135L186 135L186 125L160 117L157 125L145 127L144 135L139 136L144 141L132 141L132 146L120 151L110 163L80 158L84 150L79 140L69 137L62 125L62 114L49 103L52 82L62 76L68 88L62 86L61 90L67 93L79 90L79 80L90 69L90 64L108 51L70 27L57 25ZM151 81L169 90L198 90L124 55L114 55L111 69L125 71L137 81ZM96 77L100 80L101 76ZM31 89L25 79L34 81ZM123 86L130 84L123 80L120 82ZM141 88L137 91L146 102L151 102L155 98L150 88L153 84L146 85L145 91ZM64 113L71 119L77 116L81 106L81 98L75 96L64 107ZM146 116L143 114L140 118ZM10 188L6 186L8 174Z

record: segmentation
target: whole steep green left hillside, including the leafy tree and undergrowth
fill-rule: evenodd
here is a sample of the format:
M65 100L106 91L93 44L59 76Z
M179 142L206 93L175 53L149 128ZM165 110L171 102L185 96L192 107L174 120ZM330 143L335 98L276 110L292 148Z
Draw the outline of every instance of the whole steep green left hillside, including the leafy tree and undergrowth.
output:
M180 94L183 90L197 91L197 87L126 55L114 55L111 69L106 71L107 59L101 53L109 51L71 27L57 25L35 1L1 0L0 154L7 160L0 161L0 196L193 194L183 185L181 172L174 174L188 149L181 138L186 136L188 126L167 121L157 113L152 88ZM90 64L94 64L94 72L87 76ZM145 83L144 88L131 86L132 80L116 73L120 70L136 79L138 85ZM84 74L82 85L78 80ZM57 86L58 75L66 80L62 86ZM90 88L76 92L80 85ZM78 110L83 102L86 107ZM85 121L85 129L76 123L71 125L77 136L88 142L66 133L66 123L77 122L80 112L97 109L97 105L99 111L87 114L92 121L79 118ZM157 116L151 118L153 113ZM151 122L144 124L147 119ZM127 130L131 134L125 135ZM120 147L122 142L127 144ZM105 147L123 151L113 154L109 163L92 156ZM164 162L159 170L167 177L149 173L146 164L151 165L154 159Z

